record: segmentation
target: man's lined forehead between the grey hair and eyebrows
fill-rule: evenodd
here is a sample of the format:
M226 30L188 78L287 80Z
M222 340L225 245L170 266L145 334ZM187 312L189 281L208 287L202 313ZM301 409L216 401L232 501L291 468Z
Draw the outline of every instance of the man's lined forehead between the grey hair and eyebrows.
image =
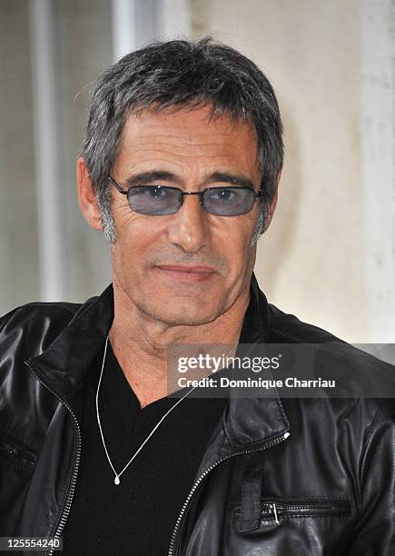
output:
M211 117L207 106L145 110L128 116L115 166L226 166L258 171L257 139L252 124L228 115Z

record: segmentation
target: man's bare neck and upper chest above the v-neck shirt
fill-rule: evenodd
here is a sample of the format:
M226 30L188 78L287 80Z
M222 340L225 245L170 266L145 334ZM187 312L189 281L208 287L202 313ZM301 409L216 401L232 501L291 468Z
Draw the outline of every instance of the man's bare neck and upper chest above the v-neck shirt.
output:
M140 311L124 292L114 285L114 322L109 339L115 357L141 407L169 393L167 356L171 345L237 345L249 301L248 289L232 307L211 323L173 326ZM228 355L232 354L233 350Z

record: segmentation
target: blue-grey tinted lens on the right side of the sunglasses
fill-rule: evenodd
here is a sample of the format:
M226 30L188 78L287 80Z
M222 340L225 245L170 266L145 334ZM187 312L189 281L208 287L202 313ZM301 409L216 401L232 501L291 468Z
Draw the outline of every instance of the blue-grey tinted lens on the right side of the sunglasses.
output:
M255 201L255 192L242 187L212 187L203 194L203 207L218 216L237 216L249 213Z

